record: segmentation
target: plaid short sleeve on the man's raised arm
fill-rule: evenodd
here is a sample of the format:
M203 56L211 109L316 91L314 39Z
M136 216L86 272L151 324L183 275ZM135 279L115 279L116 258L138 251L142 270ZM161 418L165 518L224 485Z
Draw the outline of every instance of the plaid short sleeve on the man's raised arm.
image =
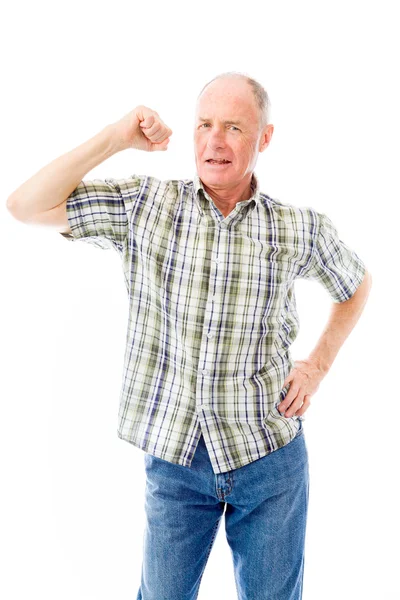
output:
M138 198L140 177L81 181L67 198L71 234L68 241L87 242L103 250L120 250L129 231L132 207Z

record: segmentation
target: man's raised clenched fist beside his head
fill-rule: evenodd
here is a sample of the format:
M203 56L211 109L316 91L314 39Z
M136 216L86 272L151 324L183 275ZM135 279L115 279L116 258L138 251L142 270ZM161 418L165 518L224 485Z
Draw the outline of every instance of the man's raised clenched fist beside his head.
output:
M154 152L167 150L172 130L159 114L147 106L137 106L114 123L115 135L121 149L136 148Z

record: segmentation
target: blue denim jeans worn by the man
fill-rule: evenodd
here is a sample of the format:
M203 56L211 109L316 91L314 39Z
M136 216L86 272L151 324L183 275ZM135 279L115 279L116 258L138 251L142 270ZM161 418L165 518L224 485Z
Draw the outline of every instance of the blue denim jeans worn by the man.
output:
M223 514L238 599L301 600L309 471L300 424L286 446L218 475L203 436L190 468L145 453L136 600L196 600Z

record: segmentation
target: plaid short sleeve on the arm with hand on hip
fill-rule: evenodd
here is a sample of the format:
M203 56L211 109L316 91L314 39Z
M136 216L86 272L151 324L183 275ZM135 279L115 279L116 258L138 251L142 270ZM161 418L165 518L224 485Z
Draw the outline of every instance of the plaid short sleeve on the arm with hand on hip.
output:
M319 281L335 303L349 300L362 283L366 266L343 240L330 218L317 213L319 227L310 266L299 275Z

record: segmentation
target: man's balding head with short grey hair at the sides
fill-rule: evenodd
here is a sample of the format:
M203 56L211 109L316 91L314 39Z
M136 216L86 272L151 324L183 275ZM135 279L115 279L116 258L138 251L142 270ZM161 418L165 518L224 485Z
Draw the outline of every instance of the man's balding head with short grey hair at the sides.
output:
M223 73L204 86L196 105L194 149L197 173L207 186L229 189L251 180L274 130L269 108L267 92L246 75Z

